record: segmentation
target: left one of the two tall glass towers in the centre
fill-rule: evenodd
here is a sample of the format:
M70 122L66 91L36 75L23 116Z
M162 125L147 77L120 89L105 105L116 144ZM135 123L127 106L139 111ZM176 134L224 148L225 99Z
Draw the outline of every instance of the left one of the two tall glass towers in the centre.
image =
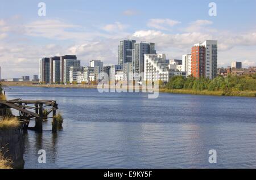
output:
M118 46L118 65L132 61L135 40L122 40Z

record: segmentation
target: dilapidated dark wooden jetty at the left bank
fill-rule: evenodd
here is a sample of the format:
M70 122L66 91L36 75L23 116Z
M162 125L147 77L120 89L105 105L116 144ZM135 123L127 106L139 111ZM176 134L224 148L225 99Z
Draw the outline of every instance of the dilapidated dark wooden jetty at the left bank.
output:
M53 100L22 100L20 98L9 101L0 101L0 108L6 112L9 108L19 111L19 119L24 122L24 131L27 129L35 130L37 132L43 131L43 119L52 113L52 132L57 131L56 110L58 105ZM44 113L44 108L47 113ZM34 112L33 112L34 111ZM31 118L35 118L35 127L28 127Z

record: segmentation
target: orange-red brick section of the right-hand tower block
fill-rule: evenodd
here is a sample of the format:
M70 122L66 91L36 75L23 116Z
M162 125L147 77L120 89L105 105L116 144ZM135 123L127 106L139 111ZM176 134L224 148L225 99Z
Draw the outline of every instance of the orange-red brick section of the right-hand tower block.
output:
M195 45L191 49L191 75L195 78L205 76L205 47Z

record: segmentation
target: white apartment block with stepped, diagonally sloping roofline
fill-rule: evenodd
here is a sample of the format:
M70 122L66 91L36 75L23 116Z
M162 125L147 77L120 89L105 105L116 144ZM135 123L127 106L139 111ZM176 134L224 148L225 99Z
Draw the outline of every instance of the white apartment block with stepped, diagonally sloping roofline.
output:
M144 61L145 81L169 81L168 63L165 54L144 54Z

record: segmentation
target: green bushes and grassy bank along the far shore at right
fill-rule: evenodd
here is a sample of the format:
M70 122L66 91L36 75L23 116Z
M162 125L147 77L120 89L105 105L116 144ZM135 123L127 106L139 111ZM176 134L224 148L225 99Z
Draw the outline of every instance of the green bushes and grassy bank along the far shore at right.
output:
M174 76L160 92L183 93L212 96L256 97L256 74L227 77L218 76L212 80L207 78L183 78Z

